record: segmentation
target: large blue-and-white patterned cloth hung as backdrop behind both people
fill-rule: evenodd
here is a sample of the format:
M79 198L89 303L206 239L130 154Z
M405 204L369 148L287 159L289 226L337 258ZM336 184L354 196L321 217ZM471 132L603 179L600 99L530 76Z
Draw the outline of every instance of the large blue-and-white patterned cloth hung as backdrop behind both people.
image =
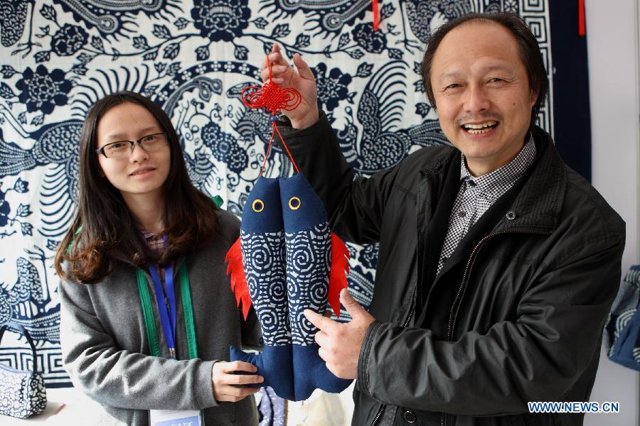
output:
M552 77L549 3L383 0L373 31L370 0L1 0L0 323L14 320L31 332L47 386L70 385L60 360L53 253L78 200L82 120L105 94L129 89L161 105L193 182L240 217L271 128L269 115L247 109L239 94L260 83L272 43L313 67L343 153L368 175L421 146L447 143L418 65L434 28L467 11L519 13ZM539 116L551 133L553 93L552 84ZM274 148L265 175L290 171ZM348 247L349 288L367 306L378 248ZM5 339L0 362L25 368L28 347L17 334Z

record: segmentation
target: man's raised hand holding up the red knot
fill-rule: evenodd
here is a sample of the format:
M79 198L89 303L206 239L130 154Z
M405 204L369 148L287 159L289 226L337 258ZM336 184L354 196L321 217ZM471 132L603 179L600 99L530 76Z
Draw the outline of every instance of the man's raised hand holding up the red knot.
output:
M318 111L318 95L316 88L316 78L311 72L309 65L302 59L299 53L294 54L294 65L289 66L289 61L280 52L280 47L274 44L269 54L269 63L272 65L272 81L283 89L296 89L302 95L302 102L293 111L282 111L282 114L289 117L294 129L306 129L313 125L320 118ZM269 80L269 65L267 58L262 62L262 81Z

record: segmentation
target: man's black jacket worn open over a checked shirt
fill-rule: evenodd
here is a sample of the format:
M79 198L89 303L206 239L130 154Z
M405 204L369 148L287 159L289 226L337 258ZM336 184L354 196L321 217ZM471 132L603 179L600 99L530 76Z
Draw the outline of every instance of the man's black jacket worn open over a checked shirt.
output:
M284 136L333 231L380 242L353 425L582 425L528 401L588 401L624 222L535 129L538 155L435 275L460 152L422 148L353 178L324 114Z

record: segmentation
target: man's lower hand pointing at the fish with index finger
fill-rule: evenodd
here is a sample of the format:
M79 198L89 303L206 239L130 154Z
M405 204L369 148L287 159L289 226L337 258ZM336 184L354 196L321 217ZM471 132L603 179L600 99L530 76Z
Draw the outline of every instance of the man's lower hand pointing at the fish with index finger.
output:
M362 342L375 318L346 289L340 292L340 302L353 318L351 322L341 324L309 309L304 310L304 316L319 328L316 343L320 345L318 354L326 362L326 368L339 378L356 378Z

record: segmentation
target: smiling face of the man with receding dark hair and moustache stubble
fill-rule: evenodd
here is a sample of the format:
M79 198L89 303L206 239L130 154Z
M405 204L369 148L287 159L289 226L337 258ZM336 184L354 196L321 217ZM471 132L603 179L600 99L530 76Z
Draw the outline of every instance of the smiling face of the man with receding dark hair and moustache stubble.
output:
M511 33L498 23L470 21L449 31L432 64L440 127L475 176L490 173L523 147L538 94Z

